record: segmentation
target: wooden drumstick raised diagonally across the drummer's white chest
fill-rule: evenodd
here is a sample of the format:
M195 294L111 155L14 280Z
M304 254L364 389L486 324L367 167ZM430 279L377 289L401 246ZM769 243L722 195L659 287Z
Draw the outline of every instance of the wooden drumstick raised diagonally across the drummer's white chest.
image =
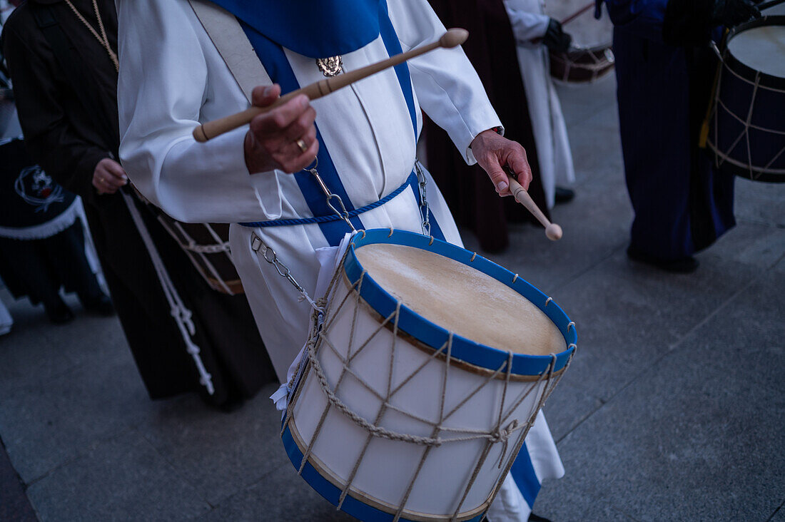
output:
M411 58L418 57L421 54L428 53L429 51L433 51L433 49L438 49L440 47L451 49L453 47L460 46L463 42L466 42L466 38L469 38L469 31L466 31L466 29L450 29L444 33L444 35L442 35L442 37L439 38L436 42L429 43L427 46L411 49L407 53L396 54L394 57L389 57L388 59L377 62L376 64L367 65L366 67L357 69L356 71L349 71L343 75L335 76L334 78L327 78L320 80L319 82L314 82L309 86L305 86L302 89L297 89L291 93L287 93L282 97L279 97L275 103L268 105L267 107L254 106L247 108L245 111L226 116L225 118L203 123L203 125L200 125L194 129L194 139L199 141L199 143L204 143L205 141L220 136L223 133L227 133L230 130L235 130L238 127L246 125L246 123L250 123L250 120L254 119L254 116L264 114L265 112L270 111L281 104L285 104L287 101L300 94L305 94L305 96L309 97L310 100L316 100L317 98L327 96L327 94L333 93L338 89L342 89L345 86L349 86L354 82L358 82L363 78L374 75L379 71L384 71L385 69L391 68L397 64L402 64L406 60L411 60Z

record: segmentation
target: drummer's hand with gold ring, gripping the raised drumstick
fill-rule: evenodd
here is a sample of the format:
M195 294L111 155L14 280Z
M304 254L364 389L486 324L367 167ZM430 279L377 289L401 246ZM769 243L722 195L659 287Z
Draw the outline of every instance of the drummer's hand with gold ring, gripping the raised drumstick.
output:
M277 84L258 86L254 88L251 100L257 107L267 107L280 94L281 88ZM305 94L254 117L245 137L248 172L278 169L294 173L312 164L319 151L314 121L316 111ZM305 148L301 148L300 144L304 144Z

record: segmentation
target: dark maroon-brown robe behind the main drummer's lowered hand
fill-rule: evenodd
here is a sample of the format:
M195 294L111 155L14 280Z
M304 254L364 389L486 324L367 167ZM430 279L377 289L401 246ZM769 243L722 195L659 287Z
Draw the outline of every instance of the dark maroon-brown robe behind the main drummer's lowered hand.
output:
M502 119L505 137L526 149L534 174L528 192L547 216L515 37L504 3L502 0L429 2L445 27L463 27L469 31L463 50L480 75L488 98ZM473 230L483 250L497 252L509 245L508 220L535 222L528 211L512 198L499 198L487 173L480 166L467 166L447 133L429 120L425 122L425 145L428 170L444 193L455 221Z

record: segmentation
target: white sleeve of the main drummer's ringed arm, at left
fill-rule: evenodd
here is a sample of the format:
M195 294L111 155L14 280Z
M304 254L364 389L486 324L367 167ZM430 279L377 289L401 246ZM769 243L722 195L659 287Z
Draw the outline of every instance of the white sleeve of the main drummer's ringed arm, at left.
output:
M248 173L247 126L206 144L192 137L206 119L206 104L227 115L247 101L239 87L234 99L216 99L227 96L225 86L216 93L214 83L234 80L222 61L217 64L220 55L206 34L196 30L202 27L188 2L119 0L118 16L120 157L137 189L181 221L280 217L276 174ZM217 65L224 66L224 78L216 78Z

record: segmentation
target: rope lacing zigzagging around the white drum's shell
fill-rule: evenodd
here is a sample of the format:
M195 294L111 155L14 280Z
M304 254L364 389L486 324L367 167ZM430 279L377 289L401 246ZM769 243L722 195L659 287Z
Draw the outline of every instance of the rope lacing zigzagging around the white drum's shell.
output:
M348 251L347 251L348 254ZM343 265L345 263L346 254L344 254L343 259L341 260L341 264L338 267L338 270L335 272L333 279L330 281L330 285L328 287L327 293L323 298L323 301L317 303L322 308L318 312L315 311L313 316L313 324L312 324L312 334L309 338L308 343L306 344L306 355L307 357L303 357L301 360L301 365L305 365L304 368L298 368L298 371L295 372L295 375L303 374L302 378L305 378L305 374L309 371L312 371L316 381L319 383L319 387L322 389L325 398L327 399L327 405L324 407L321 416L319 418L319 422L316 425L316 429L313 432L313 436L307 446L305 447L305 451L303 451L302 460L300 462L300 466L298 469L298 473L302 473L303 469L305 469L305 465L309 461L309 458L312 454L313 448L316 444L316 441L319 438L319 435L322 433L324 422L326 421L327 414L331 408L336 409L341 414L348 418L356 425L360 426L361 428L367 431L367 436L365 443L363 444L363 448L360 451L356 462L352 467L351 473L347 477L346 483L344 487L341 489L341 496L338 500L338 509L341 509L343 502L345 501L346 495L349 494L349 490L352 487L352 482L355 479L356 473L360 469L360 465L363 462L363 458L367 452L367 448L373 440L374 437L382 438L385 440L397 440L401 442L407 442L411 444L418 444L425 447L423 451L422 457L420 462L418 462L417 468L414 469L413 476L411 476L411 480L407 484L405 493L403 498L400 502L400 507L397 509L396 515L393 518L393 522L397 522L400 520L400 517L403 515L403 511L407 504L407 500L411 495L412 488L414 487L414 483L417 480L419 473L422 470L423 465L425 464L425 459L427 458L429 452L433 449L433 447L440 447L443 444L451 444L451 443L458 443L462 441L469 441L469 440L485 440L484 448L482 453L480 454L480 458L476 462L476 466L473 470L473 474L469 479L468 484L466 484L466 488L462 493L461 501L458 503L458 506L455 509L455 513L451 517L451 520L455 520L456 517L460 514L460 510L462 508L463 503L466 501L466 497L469 494L469 491L473 487L473 484L480 473L480 469L482 469L485 461L487 460L488 454L490 454L491 449L495 447L495 444L502 444L501 451L498 457L498 469L502 469L502 472L499 475L498 483L496 487L493 488L493 493L491 497L488 498L487 502L490 505L490 502L493 501L496 492L501 487L502 480L506 477L507 473L509 473L509 469L512 467L513 458L512 456L517 454L520 451L520 448L524 444L524 439L531 429L531 425L534 423L535 414L536 412L542 409L542 405L545 403L547 398L553 392L556 385L560 381L564 371L566 371L567 367L571 363L572 355L571 354L569 360L565 364L564 368L560 371L556 371L557 365L557 356L551 355L550 363L546 367L545 371L542 371L541 374L537 376L537 378L531 382L526 389L522 392L518 392L517 396L511 397L508 396L508 388L509 382L512 380L513 376L513 353L508 352L508 356L505 361L503 361L500 366L492 372L489 372L484 378L483 381L478 383L474 389L469 390L466 393L466 396L462 397L462 400L459 400L455 406L451 408L447 408L446 404L446 397L447 397L447 381L449 377L449 373L451 371L451 363L452 363L452 344L453 344L453 334L449 334L447 341L444 342L443 345L440 346L439 349L434 349L433 352L427 357L425 360L422 361L415 367L410 374L408 374L405 378L403 378L397 385L394 383L392 379L392 370L395 368L396 364L396 344L399 338L399 319L400 319L400 311L402 308L401 301L396 302L396 308L389 314L389 316L383 317L378 327L375 330L371 331L368 335L368 338L361 342L360 345L356 345L356 327L357 327L357 319L360 313L360 309L363 306L363 300L360 297L360 293L363 287L363 281L367 275L367 272L363 270L360 273L358 279L354 282L348 282L350 291L345 294L345 296L340 299L340 301L336 301L335 294L338 289L338 281L341 276L345 273ZM352 322L351 327L349 328L349 346L346 348L345 346L343 349L338 349L334 345L332 341L330 341L330 329L334 326L334 322L338 318L338 312L341 311L342 308L352 305ZM324 319L323 323L321 322ZM378 392L371 386L370 383L365 381L363 377L358 374L356 371L352 369L352 361L356 359L357 356L360 356L364 350L368 349L369 346L374 345L374 340L378 338L378 334L385 329L392 329L392 342L390 345L390 360L389 360L389 374L386 383L385 392ZM321 366L319 360L319 353L322 350L329 350L341 361L341 371L338 375L337 381L335 381L334 386L330 386L330 382L327 379L327 375L324 373L324 369ZM441 385L441 396L440 396L440 403L439 403L439 415L436 421L429 420L426 418L422 418L417 414L413 414L410 411L405 411L403 408L396 407L393 401L394 396L396 393L399 392L407 383L409 383L413 378L415 378L421 371L428 367L429 364L433 363L436 359L444 359L441 361L442 367L444 367L444 371L442 373L442 385ZM339 389L342 383L346 380L347 377L353 378L356 382L360 383L364 389L370 392L373 396L377 397L381 403L379 407L379 411L376 414L373 421L364 418L362 415L357 414L355 411L352 411L338 396ZM499 405L498 409L498 416L496 418L495 424L489 430L478 430L478 429L462 429L457 427L450 427L444 425L447 420L451 418L453 414L459 411L469 400L471 400L478 392L486 387L486 385L494 381L496 379L503 378L504 379L504 386L502 388L502 402ZM544 386L539 386L542 383L545 383ZM293 386L294 382L290 383L290 386ZM294 397L291 398L289 401L289 405L287 407L286 418L283 423L283 429L286 429L286 425L290 422L290 418L294 413L294 404L297 403L298 397L301 393L302 386L298 386L295 390ZM535 407L533 411L535 414L531 414L528 419L518 419L512 418L513 414L520 407L520 404L524 402L529 396L531 396L532 392L538 390L538 396L535 396ZM412 418L418 422L422 422L424 425L429 425L432 429L429 436L421 436L421 435L412 435L407 433L397 433L392 429L387 429L384 426L380 425L382 422L382 418L384 417L387 411L396 411L398 414L403 414L408 418ZM513 443L513 451L509 451L509 443L511 440L514 440Z

